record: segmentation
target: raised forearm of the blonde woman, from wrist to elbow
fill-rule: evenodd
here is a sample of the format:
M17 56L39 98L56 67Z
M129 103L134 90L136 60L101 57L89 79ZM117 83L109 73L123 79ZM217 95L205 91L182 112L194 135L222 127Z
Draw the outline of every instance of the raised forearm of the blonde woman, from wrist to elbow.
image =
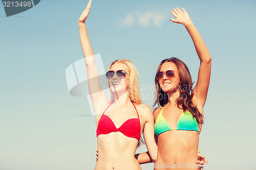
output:
M79 27L79 35L80 35L81 47L82 47L84 57L94 55L85 23L78 22L78 27Z

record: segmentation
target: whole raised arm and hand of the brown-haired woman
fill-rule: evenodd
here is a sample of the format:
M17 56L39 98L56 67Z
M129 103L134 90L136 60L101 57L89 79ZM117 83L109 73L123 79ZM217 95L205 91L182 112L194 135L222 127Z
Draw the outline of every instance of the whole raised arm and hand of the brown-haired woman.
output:
M206 101L207 91L210 82L210 69L211 69L211 56L210 53L200 36L199 32L197 31L196 27L194 26L193 22L191 21L189 15L185 11L184 8L180 10L179 8L174 9L171 12L176 19L170 19L175 23L181 23L185 26L187 32L189 33L190 37L193 40L195 45L198 57L200 59L200 67L198 72L198 81L194 88L195 98L193 99L198 106L203 107Z

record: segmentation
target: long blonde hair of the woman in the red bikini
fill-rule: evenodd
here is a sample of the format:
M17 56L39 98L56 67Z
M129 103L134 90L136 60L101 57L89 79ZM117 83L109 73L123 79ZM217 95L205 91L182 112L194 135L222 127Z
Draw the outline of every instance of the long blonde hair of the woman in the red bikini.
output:
M110 71L111 66L114 65L115 63L122 63L128 67L130 71L129 89L128 89L129 98L133 103L137 105L142 104L140 90L139 90L139 76L138 76L137 69L135 68L135 66L130 60L122 59L122 60L115 60L114 62L112 62L109 66L108 71ZM115 93L111 91L111 102L114 102L114 100L115 100Z

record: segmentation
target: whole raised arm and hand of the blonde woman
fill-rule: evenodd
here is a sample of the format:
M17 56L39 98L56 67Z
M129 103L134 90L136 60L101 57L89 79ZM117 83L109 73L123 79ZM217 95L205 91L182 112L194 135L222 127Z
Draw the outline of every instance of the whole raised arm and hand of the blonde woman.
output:
M78 20L78 27L82 51L86 60L88 87L93 103L93 108L96 114L100 114L103 112L103 109L109 105L109 100L106 98L100 86L98 69L95 64L95 56L86 29L85 22L90 13L91 4L92 0L89 1L87 8L82 12Z

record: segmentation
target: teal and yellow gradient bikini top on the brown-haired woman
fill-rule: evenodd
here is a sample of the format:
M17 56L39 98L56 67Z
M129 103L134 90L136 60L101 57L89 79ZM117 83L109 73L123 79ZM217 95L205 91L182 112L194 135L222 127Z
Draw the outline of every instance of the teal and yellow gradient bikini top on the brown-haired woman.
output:
M185 131L198 132L197 119L193 117L193 115L188 111L185 111L180 115L177 122L177 129L170 129L170 126L168 125L165 118L163 117L163 114L162 114L163 109L160 111L155 123L154 130L157 136L163 132L170 131L170 130L185 130Z

